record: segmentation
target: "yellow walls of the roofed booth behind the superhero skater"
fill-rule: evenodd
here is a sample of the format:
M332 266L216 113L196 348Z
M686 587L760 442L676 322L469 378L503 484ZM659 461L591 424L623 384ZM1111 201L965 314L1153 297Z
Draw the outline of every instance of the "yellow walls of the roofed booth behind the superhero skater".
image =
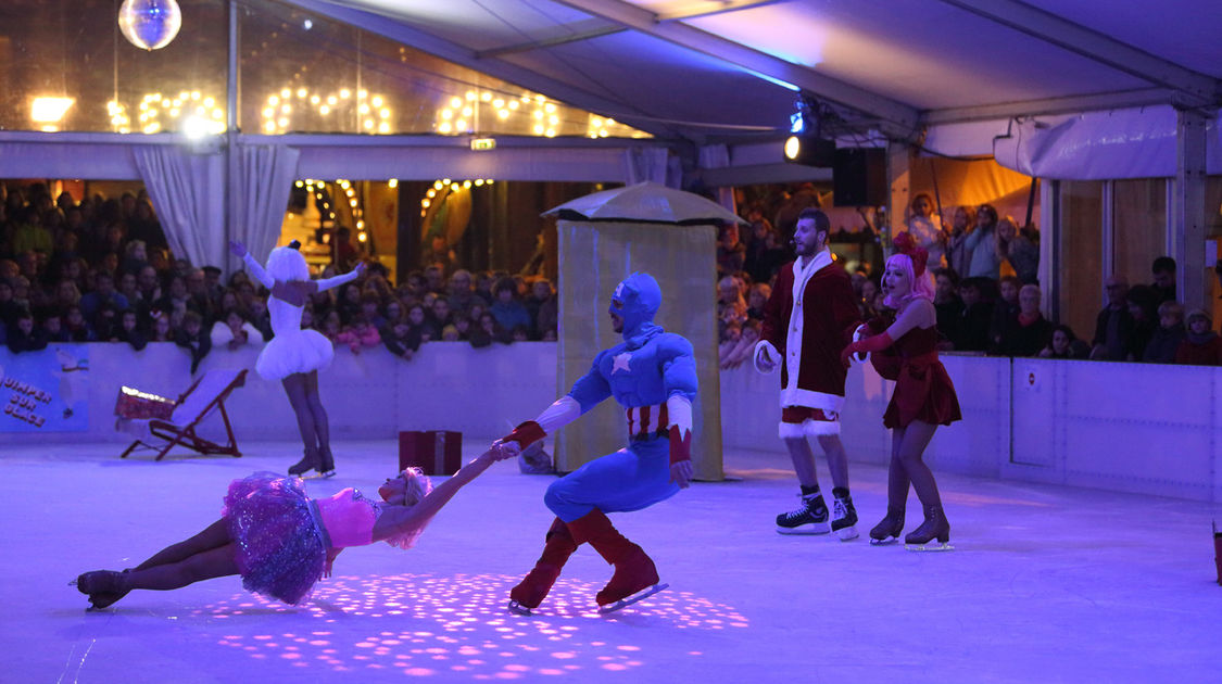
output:
M695 349L700 391L692 406L695 479L721 480L721 382L717 374L715 226L557 221L560 344L557 396L566 395L602 349L622 342L611 330L611 292L624 276L645 271L662 288L655 321ZM556 435L556 468L572 471L627 443L623 409L607 399Z

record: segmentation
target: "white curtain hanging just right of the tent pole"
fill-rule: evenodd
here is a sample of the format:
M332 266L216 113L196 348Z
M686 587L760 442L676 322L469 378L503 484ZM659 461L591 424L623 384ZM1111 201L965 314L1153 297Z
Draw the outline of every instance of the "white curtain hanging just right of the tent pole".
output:
M286 145L240 145L233 239L259 261L276 246L301 151Z

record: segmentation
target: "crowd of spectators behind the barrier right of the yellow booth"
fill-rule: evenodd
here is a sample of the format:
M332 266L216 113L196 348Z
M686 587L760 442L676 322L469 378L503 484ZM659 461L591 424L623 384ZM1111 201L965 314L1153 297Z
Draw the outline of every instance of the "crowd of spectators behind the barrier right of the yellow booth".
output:
M788 244L793 221L777 215L774 226L761 205L748 206L749 226L725 226L717 246L719 358L723 369L752 357L759 340L764 302L776 274L793 259ZM938 349L996 357L1040 357L1145 363L1222 365L1222 337L1204 309L1184 310L1176 296L1176 261L1157 256L1149 285L1129 285L1123 275L1106 281L1106 302L1095 329L1081 337L1048 320L1040 309L1039 232L1018 227L989 205L957 206L949 221L934 215L926 194L913 199L907 226L929 252L935 278ZM792 219L792 216L789 216ZM863 214L853 235L877 243L879 232ZM783 221L788 224L782 225ZM844 236L832 235L835 247ZM835 250L835 249L833 249ZM881 246L879 247L881 254ZM848 260L862 320L891 313L884 303L880 260ZM1222 278L1222 263L1218 266Z

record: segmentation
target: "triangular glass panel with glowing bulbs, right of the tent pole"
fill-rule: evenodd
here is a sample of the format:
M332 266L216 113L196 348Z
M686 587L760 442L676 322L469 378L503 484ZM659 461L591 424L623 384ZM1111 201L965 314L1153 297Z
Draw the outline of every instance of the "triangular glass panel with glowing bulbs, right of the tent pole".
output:
M319 15L251 6L241 49L246 132L649 137Z

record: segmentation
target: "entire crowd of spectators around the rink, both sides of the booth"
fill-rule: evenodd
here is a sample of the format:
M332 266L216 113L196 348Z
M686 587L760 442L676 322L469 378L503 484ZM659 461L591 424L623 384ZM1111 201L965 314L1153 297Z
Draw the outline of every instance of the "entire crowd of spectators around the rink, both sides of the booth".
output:
M716 314L723 368L749 358L771 283L793 258L792 204L744 204L748 226L721 228ZM1047 320L1040 310L1033 226L1019 228L987 204L947 215L949 221L935 216L929 195L918 194L907 221L930 253L942 351L1222 364L1222 337L1209 311L1185 311L1176 300L1174 260L1154 259L1149 285L1111 276L1095 329L1084 337L1085 331ZM858 231L832 239L864 236L866 244L877 244L870 217L862 217ZM336 237L343 243L346 235L351 231L340 230ZM337 250L341 261L358 259L346 244ZM863 320L887 314L881 254L879 247L873 259L846 261ZM362 281L318 293L303 326L353 352L384 346L404 360L431 341L485 347L556 338L557 299L547 278L464 270L439 239L425 256L423 267L397 286L374 263ZM198 368L210 353L271 338L266 298L242 271L224 280L219 267L175 259L143 193L77 203L68 193L53 198L42 183L0 183L0 342L15 353L53 342L109 341L141 349L163 341L176 343Z

